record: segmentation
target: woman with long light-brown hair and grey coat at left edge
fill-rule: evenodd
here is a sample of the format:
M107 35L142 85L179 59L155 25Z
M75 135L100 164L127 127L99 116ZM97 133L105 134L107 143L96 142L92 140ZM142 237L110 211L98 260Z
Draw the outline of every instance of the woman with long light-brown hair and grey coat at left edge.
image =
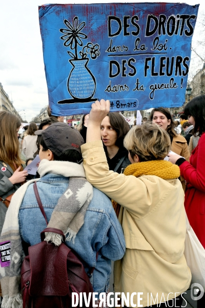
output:
M20 120L16 115L0 111L0 233L4 224L8 201L28 176L20 159L18 130ZM8 198L8 199L7 199Z

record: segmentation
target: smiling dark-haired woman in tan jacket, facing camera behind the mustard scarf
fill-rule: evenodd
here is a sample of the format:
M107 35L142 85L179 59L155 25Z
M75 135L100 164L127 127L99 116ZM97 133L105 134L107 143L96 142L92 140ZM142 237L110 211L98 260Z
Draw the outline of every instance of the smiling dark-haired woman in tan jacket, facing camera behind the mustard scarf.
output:
M171 140L171 150L189 161L190 152L187 140L175 131L174 122L169 109L163 107L152 109L150 121L156 123L159 127L168 132ZM182 177L180 179L183 190L185 190L185 180Z

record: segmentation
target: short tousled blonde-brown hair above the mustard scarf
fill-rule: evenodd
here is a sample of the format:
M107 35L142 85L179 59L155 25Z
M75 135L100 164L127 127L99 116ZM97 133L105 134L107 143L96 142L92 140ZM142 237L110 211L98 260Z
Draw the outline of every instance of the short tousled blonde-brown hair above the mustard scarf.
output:
M137 154L140 162L162 160L170 151L171 140L167 131L146 121L130 129L124 139L124 146L132 159Z

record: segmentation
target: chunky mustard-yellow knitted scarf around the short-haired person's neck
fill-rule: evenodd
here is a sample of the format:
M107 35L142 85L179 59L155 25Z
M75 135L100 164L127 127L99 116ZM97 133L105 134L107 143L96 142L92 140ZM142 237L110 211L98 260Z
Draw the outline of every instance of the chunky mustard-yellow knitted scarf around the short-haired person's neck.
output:
M126 176L134 176L139 178L141 176L157 176L161 179L177 179L180 176L180 169L177 165L165 160L156 160L149 162L135 163L127 166L124 171ZM121 205L112 200L112 204L117 217Z

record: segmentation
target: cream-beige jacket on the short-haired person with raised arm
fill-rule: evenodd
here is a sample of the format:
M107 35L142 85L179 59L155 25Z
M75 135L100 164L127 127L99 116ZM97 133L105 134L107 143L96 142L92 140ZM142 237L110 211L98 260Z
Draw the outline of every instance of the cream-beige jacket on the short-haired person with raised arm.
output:
M154 300L158 297L156 304L162 296L167 301L186 291L191 272L183 255L186 219L180 181L109 171L101 141L86 143L81 151L88 181L122 205L126 254L115 262L115 292L142 292L145 307L151 305L151 293ZM133 302L137 304L137 296Z

